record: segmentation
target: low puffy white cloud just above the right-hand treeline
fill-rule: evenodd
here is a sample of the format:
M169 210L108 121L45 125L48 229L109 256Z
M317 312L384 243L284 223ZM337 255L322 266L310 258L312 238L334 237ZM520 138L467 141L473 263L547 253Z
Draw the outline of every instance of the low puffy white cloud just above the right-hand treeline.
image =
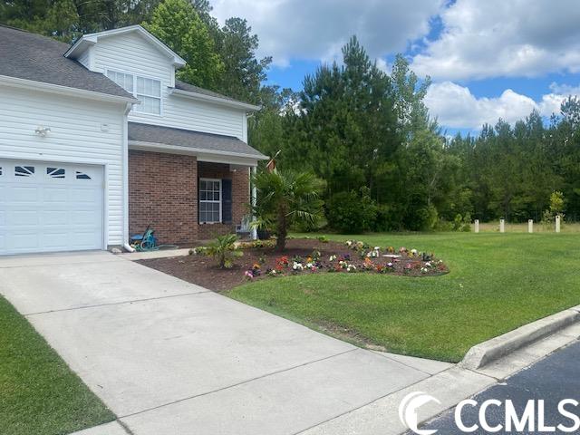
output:
M534 109L543 116L557 114L567 95L580 95L580 86L552 83L550 90L552 92L543 95L539 102L511 89L495 98L477 98L467 87L453 82L440 82L430 85L425 103L441 125L478 130L484 123L495 125L499 118L509 123L524 119Z

